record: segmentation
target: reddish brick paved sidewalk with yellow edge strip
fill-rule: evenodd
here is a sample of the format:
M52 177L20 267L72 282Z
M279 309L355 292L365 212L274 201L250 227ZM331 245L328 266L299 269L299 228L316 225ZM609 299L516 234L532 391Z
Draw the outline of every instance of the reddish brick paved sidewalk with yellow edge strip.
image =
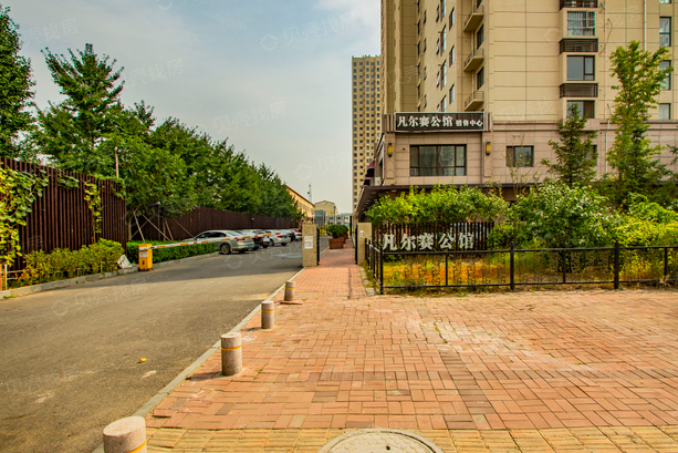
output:
M281 295L282 296L282 295ZM367 297L327 250L147 416L149 451L316 452L346 430L411 430L446 452L678 452L678 292Z

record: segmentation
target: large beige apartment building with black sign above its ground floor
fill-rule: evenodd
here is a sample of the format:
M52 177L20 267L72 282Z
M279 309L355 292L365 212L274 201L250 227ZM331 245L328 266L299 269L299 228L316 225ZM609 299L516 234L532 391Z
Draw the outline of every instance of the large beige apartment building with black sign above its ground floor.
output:
M356 214L413 185L499 184L511 198L544 176L573 104L598 133L606 173L617 93L609 55L632 40L675 55L677 19L675 0L382 0L383 134ZM675 74L658 102L647 136L676 145Z

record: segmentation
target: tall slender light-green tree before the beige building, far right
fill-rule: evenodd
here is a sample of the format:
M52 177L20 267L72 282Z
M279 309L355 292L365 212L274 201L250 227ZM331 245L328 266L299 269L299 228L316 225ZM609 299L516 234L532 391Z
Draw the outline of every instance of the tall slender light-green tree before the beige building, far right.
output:
M649 53L640 50L637 41L632 41L628 49L620 47L612 53L612 71L618 80L613 89L618 93L611 119L617 128L607 162L617 172L614 179L616 203L625 203L630 193L649 195L668 175L666 166L656 157L661 146L651 146L650 140L645 137L649 128L646 123L650 117L649 109L657 105L664 80L674 70L659 66L668 58L668 49L659 48Z

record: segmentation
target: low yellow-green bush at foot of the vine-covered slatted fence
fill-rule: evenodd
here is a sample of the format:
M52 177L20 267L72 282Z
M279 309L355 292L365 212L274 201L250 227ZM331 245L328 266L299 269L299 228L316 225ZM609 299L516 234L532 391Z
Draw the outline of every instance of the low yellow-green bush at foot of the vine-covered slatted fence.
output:
M109 272L117 269L123 246L113 240L100 239L80 250L58 248L49 254L42 250L24 256L25 268L19 278L20 285L36 285L64 278Z

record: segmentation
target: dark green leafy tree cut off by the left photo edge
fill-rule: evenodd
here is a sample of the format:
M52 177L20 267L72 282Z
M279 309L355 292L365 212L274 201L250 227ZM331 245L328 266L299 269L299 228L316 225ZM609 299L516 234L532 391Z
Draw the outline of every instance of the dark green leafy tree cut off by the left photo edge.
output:
M33 127L31 61L19 55L19 25L0 4L0 157L18 157L20 134Z

